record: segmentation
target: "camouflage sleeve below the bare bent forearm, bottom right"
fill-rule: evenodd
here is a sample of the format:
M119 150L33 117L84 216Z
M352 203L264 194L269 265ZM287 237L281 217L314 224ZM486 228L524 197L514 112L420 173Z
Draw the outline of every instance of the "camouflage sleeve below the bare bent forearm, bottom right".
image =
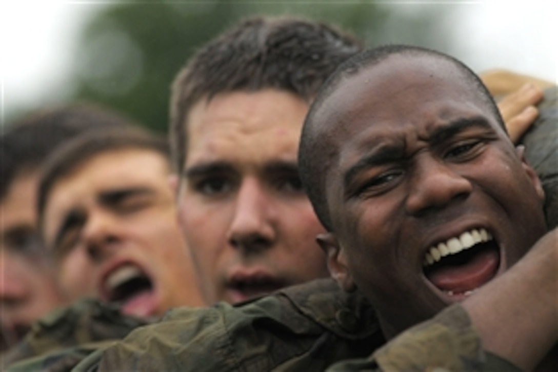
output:
M421 323L371 357L337 363L340 371L519 371L500 357L482 350L465 310L456 304L431 321Z

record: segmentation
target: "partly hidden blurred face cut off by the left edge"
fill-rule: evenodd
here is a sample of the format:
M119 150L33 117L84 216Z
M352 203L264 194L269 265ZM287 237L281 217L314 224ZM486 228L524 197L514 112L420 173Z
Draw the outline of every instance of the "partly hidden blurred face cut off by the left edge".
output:
M54 270L36 228L36 187L37 174L21 175L0 203L0 351L61 304Z

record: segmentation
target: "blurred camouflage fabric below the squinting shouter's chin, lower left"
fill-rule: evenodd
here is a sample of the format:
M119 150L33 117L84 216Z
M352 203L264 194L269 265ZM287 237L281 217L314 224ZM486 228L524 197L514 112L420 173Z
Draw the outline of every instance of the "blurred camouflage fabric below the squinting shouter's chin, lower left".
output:
M121 340L148 322L124 316L114 304L84 298L35 322L23 341L2 355L0 366L2 370L7 366L23 371L43 370L44 366L65 370L65 365L75 365L94 350Z

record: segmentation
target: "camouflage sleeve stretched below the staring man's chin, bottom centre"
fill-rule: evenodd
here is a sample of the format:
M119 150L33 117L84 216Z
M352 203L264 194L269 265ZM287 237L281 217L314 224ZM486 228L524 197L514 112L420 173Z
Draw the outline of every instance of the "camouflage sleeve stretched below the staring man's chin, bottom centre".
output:
M384 342L368 301L322 279L239 306L171 310L74 371L325 370Z

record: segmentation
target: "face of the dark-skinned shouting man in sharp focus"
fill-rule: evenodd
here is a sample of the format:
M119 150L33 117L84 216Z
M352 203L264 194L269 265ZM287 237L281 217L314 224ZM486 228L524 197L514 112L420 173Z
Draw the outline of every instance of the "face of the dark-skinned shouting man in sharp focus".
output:
M315 120L336 150L325 160L330 267L371 299L388 336L474 293L545 232L522 150L444 60L364 68Z

